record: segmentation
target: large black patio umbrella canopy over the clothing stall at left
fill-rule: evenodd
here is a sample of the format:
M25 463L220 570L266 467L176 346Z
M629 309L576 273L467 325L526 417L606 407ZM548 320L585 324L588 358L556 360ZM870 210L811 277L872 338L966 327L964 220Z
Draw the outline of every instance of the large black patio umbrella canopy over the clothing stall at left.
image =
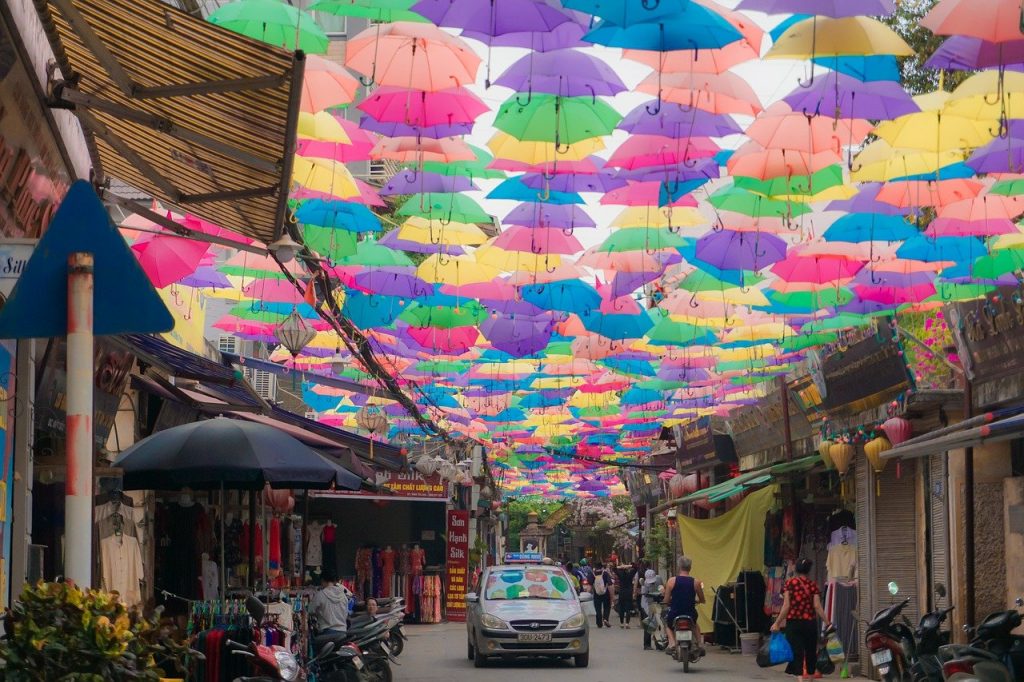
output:
M154 433L121 453L128 491L357 491L362 479L271 426L217 417Z

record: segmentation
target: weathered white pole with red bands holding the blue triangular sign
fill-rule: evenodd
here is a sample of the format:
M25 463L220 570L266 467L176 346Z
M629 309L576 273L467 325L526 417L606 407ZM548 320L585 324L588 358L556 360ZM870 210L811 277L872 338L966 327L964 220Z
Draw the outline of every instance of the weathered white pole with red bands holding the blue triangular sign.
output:
M93 258L68 258L68 479L65 488L65 578L92 586Z

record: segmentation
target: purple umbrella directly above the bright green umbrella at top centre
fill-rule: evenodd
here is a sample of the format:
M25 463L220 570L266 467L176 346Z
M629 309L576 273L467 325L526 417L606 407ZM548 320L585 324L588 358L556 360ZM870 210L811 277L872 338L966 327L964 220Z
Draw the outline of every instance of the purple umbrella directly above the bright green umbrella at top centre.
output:
M527 54L499 76L495 85L564 97L613 96L626 90L626 84L604 60L573 49Z

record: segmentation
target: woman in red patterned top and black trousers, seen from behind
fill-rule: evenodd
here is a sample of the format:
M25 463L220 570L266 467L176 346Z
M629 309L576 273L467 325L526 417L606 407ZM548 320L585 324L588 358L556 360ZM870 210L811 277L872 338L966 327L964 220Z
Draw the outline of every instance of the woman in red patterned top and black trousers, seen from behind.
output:
M815 615L828 625L825 611L821 607L821 591L807 576L811 572L813 562L801 559L797 562L797 577L785 582L782 610L778 613L772 632L778 632L785 626L785 639L793 648L793 662L785 672L796 675L797 680L820 678L821 673L815 672L818 650L818 626ZM806 675L806 678L804 677Z

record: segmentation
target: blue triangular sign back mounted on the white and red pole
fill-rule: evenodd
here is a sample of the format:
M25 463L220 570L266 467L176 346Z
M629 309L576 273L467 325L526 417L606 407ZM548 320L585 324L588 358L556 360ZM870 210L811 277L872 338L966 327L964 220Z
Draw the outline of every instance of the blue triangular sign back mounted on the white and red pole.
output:
M174 318L111 222L99 197L88 182L78 180L0 309L0 339L68 334L68 257L73 253L91 253L95 262L94 334L174 329Z

